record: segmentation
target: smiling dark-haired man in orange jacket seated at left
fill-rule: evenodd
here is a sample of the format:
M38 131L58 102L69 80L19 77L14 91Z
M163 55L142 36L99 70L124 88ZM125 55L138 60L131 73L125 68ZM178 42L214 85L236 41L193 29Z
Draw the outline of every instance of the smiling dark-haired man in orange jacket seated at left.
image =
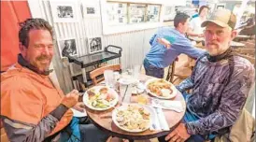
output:
M73 117L71 107L83 110L78 91L64 95L50 80L54 46L49 22L22 22L19 40L18 63L1 74L1 121L9 141L106 141L108 135L92 123L79 124Z

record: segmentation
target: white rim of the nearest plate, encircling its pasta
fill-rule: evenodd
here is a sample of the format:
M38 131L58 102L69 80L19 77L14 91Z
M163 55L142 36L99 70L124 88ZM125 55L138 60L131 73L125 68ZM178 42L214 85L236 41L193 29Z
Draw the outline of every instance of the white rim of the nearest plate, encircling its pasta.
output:
M135 106L139 106L139 107L144 107L144 108L146 108L149 112L151 112L147 106L145 106L145 105L140 105L140 104L135 104L135 103L122 105L122 106L120 106L120 107L128 107L128 105L135 105ZM116 107L116 108L112 111L112 121L115 123L115 125L116 125L118 128L120 128L120 129L123 130L123 131L129 132L129 133L141 133L141 132L147 131L147 130L150 128L150 125L151 125L151 123L152 123L152 119L151 119L152 114L151 114L151 113L150 113L150 119L149 119L149 126L148 126L147 128L145 128L144 130L131 131L131 130L129 130L129 129L125 129L125 128L121 127L121 126L119 125L118 121L116 121L116 119L115 119L115 118L116 118L117 111L118 111L118 108L120 108L120 107Z

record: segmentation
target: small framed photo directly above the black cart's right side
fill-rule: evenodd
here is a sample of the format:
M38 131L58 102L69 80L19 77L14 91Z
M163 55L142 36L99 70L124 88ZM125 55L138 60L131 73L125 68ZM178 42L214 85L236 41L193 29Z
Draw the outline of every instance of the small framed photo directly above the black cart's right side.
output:
M95 53L103 50L102 47L102 37L96 36L96 37L88 37L88 48L89 53Z

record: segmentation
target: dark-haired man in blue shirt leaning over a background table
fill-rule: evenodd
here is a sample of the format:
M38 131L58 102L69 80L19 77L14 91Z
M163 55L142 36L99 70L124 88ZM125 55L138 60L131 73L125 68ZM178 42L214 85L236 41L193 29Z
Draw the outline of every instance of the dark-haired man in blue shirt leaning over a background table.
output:
M146 75L164 78L164 67L172 64L179 54L184 53L195 59L205 53L205 50L194 48L185 36L189 28L189 19L189 15L178 13L174 19L175 28L162 27L151 37L151 49L143 63ZM169 42L169 46L166 46L166 42Z

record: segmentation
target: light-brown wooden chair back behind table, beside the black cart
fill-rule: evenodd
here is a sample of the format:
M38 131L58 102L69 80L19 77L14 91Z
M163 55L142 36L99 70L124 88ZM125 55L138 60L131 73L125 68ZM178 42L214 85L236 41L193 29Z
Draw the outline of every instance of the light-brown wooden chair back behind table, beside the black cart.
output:
M90 78L92 78L93 85L97 85L100 81L104 80L103 78L100 78L99 76L104 74L105 70L113 70L113 71L120 71L121 70L121 64L113 64L113 65L107 65L100 68L97 68L90 72Z

